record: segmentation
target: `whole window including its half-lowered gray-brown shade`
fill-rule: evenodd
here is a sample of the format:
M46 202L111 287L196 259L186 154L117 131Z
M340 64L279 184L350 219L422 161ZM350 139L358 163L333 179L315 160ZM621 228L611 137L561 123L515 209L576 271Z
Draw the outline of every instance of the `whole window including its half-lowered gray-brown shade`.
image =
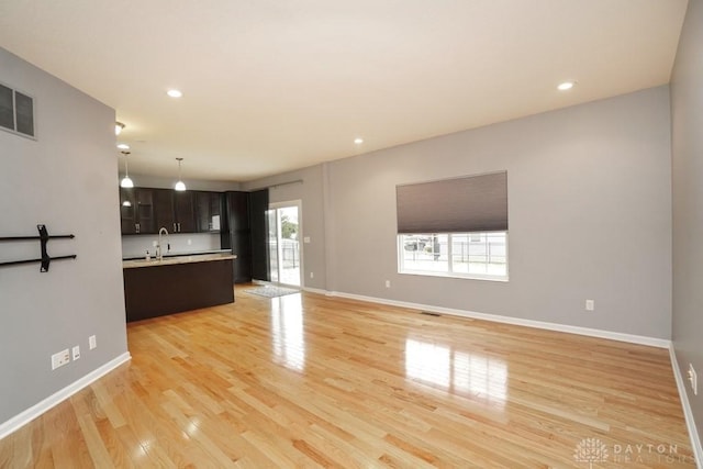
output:
M507 172L395 188L398 270L507 280Z

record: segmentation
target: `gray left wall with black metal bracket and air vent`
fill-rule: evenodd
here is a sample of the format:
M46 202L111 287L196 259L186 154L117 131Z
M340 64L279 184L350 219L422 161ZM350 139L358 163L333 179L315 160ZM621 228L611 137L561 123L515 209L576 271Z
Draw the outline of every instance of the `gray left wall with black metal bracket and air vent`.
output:
M74 233L49 254L0 268L0 424L125 354L114 111L0 48L0 81L35 98L37 139L0 131L0 236ZM0 260L38 256L38 243L1 243ZM88 350L88 336L98 348ZM51 355L80 345L55 371Z

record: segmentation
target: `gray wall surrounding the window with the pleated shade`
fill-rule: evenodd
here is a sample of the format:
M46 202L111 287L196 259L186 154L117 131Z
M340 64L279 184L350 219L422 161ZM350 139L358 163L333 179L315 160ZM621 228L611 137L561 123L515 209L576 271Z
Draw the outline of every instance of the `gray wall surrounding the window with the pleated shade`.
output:
M315 232L305 269L326 269L306 286L668 339L670 145L659 87L308 168L304 185L271 200L303 200ZM395 186L498 170L507 170L510 281L399 275Z

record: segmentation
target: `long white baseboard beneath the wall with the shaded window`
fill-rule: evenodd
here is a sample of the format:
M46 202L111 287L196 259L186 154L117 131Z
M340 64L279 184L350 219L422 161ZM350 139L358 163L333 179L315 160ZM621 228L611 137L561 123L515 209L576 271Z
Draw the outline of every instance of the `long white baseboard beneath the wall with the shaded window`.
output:
M501 316L498 314L477 313L475 311L455 310L451 308L433 306L431 304L410 303L405 301L387 300L383 298L364 297L360 294L327 292L327 295L348 298L350 300L368 301L371 303L388 304L391 306L408 308L411 310L428 311L432 313L450 314L454 316L484 320L494 323L513 324L518 326L535 327L547 331L565 332L569 334L587 335L590 337L609 338L611 340L627 342L631 344L648 345L650 347L669 348L671 340L643 335L623 334L620 332L602 331L589 327L570 326L565 324L548 323L544 321L523 320L520 317Z

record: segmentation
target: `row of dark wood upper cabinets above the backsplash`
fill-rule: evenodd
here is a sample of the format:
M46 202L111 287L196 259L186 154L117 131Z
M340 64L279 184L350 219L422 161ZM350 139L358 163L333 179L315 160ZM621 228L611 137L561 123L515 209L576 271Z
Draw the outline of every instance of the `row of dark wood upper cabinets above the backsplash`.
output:
M219 233L220 192L120 188L122 234Z

